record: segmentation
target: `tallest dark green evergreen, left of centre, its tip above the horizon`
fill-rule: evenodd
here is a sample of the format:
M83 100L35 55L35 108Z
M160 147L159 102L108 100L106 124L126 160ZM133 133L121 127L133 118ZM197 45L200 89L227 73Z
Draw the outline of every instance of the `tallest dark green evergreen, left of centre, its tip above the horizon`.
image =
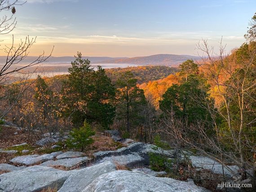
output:
M115 87L105 70L98 66L94 71L90 61L83 59L80 52L71 65L65 101L73 123L79 126L87 119L90 123L97 122L107 128L115 117L115 107L112 105Z

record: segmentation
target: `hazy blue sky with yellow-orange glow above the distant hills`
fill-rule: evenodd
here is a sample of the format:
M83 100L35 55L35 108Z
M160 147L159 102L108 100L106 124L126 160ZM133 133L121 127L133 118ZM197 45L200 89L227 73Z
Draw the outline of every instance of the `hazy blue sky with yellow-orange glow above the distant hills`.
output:
M223 36L230 50L245 41L255 8L255 0L27 0L1 46L13 34L37 36L31 56L53 45L53 56L195 55L200 39L217 46Z

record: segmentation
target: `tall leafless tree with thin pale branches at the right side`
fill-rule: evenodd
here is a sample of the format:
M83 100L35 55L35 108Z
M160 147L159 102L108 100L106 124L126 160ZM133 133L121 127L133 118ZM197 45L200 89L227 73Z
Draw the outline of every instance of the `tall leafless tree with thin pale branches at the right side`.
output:
M247 44L243 45L247 48ZM234 151L239 152L240 156L240 167L246 170L247 161L245 158L246 144L252 145L253 141L248 139L248 135L244 129L256 122L255 112L254 118L250 122L244 121L245 113L249 109L247 101L256 101L253 98L252 93L256 88L255 80L255 56L256 50L248 50L247 53L243 53L238 58L238 52L234 52L229 55L225 53L225 46L220 43L219 53L215 53L213 47L207 44L207 40L203 40L197 44L197 48L205 53L205 57L201 57L205 67L204 71L209 83L212 84L212 94L220 96L224 102L225 110L217 110L222 118L225 119L228 125L228 130L231 135L231 142L234 146ZM254 78L253 78L254 76ZM234 124L234 116L232 116L232 103L239 109L239 126ZM252 130L253 131L253 130ZM255 147L255 146L254 146ZM246 178L246 175L243 179Z

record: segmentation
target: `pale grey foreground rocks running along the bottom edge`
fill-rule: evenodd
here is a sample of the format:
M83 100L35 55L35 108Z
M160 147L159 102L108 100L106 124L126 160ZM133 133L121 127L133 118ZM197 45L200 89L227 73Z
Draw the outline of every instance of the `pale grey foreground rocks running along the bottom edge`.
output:
M116 170L115 164L108 161L81 170L30 166L0 175L1 192L36 192L49 188L58 192L208 192L193 183L158 178L137 170Z

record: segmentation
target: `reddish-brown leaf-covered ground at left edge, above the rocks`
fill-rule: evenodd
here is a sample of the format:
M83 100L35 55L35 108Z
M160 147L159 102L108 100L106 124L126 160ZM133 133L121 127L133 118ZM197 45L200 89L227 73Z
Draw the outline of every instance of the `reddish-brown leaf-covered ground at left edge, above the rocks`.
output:
M14 133L17 132L17 135ZM0 130L0 148L8 148L16 144L27 143L34 145L39 140L39 136L36 134L22 133L17 131L14 127L1 126Z

